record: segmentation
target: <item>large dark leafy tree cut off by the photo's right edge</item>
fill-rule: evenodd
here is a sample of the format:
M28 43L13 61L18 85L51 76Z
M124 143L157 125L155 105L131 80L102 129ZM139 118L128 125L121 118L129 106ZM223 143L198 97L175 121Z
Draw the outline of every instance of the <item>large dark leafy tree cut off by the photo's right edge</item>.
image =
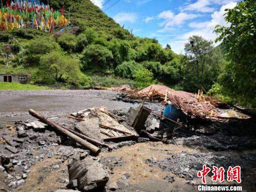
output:
M241 104L256 107L256 1L244 0L226 11L230 25L215 30L229 60L220 84Z

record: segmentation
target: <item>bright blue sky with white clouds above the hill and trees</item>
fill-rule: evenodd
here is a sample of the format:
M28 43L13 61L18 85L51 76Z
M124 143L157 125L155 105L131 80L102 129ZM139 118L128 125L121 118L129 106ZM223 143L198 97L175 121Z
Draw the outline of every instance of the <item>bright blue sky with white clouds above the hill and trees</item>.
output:
M214 40L214 27L229 25L224 10L238 0L120 0L115 5L118 0L91 1L121 26L133 29L134 35L156 38L162 46L168 43L181 53L192 35Z

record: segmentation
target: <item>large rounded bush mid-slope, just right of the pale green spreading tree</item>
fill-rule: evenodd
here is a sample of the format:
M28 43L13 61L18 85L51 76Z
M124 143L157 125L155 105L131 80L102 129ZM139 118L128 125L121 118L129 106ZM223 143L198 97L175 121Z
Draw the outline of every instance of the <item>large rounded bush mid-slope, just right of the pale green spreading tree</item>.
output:
M110 50L101 45L90 45L82 53L83 69L111 67L113 55Z

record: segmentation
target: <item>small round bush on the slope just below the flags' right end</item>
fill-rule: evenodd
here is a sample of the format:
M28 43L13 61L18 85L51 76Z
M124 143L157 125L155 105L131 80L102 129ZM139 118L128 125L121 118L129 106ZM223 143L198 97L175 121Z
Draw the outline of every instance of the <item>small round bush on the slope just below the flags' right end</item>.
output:
M65 50L72 52L76 47L76 37L72 34L65 33L57 39L57 42Z

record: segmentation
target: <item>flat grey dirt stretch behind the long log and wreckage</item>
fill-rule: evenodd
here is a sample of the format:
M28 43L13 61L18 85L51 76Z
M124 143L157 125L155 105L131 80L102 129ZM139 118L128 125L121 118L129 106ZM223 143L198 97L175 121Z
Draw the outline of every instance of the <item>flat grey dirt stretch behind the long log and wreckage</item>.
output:
M110 110L133 106L113 101L116 95L105 90L0 91L0 126L31 119L29 109L40 111L47 117L56 117L94 106L105 105Z

